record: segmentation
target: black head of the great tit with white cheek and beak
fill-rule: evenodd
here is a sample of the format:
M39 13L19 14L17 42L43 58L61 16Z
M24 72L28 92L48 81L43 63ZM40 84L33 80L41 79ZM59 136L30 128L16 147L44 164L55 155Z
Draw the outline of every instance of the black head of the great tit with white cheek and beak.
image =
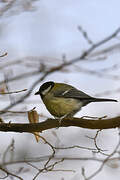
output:
M40 86L40 89L38 92L35 93L35 95L40 95L41 97L45 96L54 86L53 81L45 82Z

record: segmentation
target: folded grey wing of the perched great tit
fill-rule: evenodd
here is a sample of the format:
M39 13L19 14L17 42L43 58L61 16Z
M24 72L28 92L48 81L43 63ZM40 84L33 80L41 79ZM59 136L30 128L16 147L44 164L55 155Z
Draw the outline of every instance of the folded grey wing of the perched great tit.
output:
M69 90L61 90L54 93L56 97L64 97L64 98L75 98L79 100L91 100L93 97L85 94L82 91L77 90L76 88L71 88Z

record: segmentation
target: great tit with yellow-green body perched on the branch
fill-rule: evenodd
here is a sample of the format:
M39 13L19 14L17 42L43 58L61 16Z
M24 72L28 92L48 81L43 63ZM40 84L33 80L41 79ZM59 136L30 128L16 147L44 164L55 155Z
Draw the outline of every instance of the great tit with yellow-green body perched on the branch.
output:
M114 99L94 98L71 85L52 81L42 84L35 95L41 96L47 110L57 118L74 116L91 102L117 102Z

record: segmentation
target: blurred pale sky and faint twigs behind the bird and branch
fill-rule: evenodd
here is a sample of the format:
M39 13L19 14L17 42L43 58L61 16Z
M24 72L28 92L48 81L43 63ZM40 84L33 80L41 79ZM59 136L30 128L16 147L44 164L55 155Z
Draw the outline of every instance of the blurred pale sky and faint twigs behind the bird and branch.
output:
M52 117L40 98L34 96L40 85L48 80L65 82L85 93L120 100L120 33L92 51L86 59L66 66L46 76L43 81L34 84L46 71L62 63L81 56L90 47L113 34L119 27L120 2L83 1L83 0L1 0L0 1L0 92L12 92L27 89L17 94L0 94L0 111L6 113L0 117L4 122L29 123L27 111L36 107L40 114L39 121ZM24 95L29 93L27 98ZM16 103L23 97L21 103ZM11 107L11 108L9 108ZM119 116L120 103L91 103L84 107L76 117L115 117ZM14 111L8 112L8 111ZM18 113L16 113L18 112ZM87 138L94 137L96 130L77 127L59 128L44 131L50 143L58 147L80 145L95 148L94 142ZM14 139L14 150L9 149ZM109 154L117 144L117 129L104 130L98 137L100 148ZM0 133L1 165L4 162L35 158L51 154L50 148L42 140L36 142L28 133ZM7 153L6 149L8 148ZM12 153L11 153L12 152ZM59 157L93 157L93 152L85 149L57 150ZM4 156L4 157L3 157ZM96 155L104 158L104 155ZM11 159L12 157L12 159ZM84 166L89 176L99 168L98 162L65 160L56 169L74 170L75 172L41 173L36 179L78 180L84 179L81 168ZM113 162L112 162L113 163ZM97 165L98 166L97 166ZM41 168L43 161L37 163ZM120 178L119 161L109 164L98 174L97 180ZM18 163L10 165L11 172L18 172L24 179L33 179L36 169L30 165ZM3 172L0 176L3 177ZM9 180L10 177L7 177ZM15 179L15 178L14 178Z

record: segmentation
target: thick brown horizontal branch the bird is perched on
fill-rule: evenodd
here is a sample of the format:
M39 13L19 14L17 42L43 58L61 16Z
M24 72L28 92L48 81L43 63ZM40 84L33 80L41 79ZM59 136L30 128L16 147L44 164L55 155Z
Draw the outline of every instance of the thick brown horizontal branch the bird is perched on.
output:
M120 117L111 119L90 120L83 118L65 118L61 124L58 119L47 119L40 123L18 124L18 123L0 123L0 131L13 132L42 132L56 127L76 126L88 129L110 129L120 127Z

